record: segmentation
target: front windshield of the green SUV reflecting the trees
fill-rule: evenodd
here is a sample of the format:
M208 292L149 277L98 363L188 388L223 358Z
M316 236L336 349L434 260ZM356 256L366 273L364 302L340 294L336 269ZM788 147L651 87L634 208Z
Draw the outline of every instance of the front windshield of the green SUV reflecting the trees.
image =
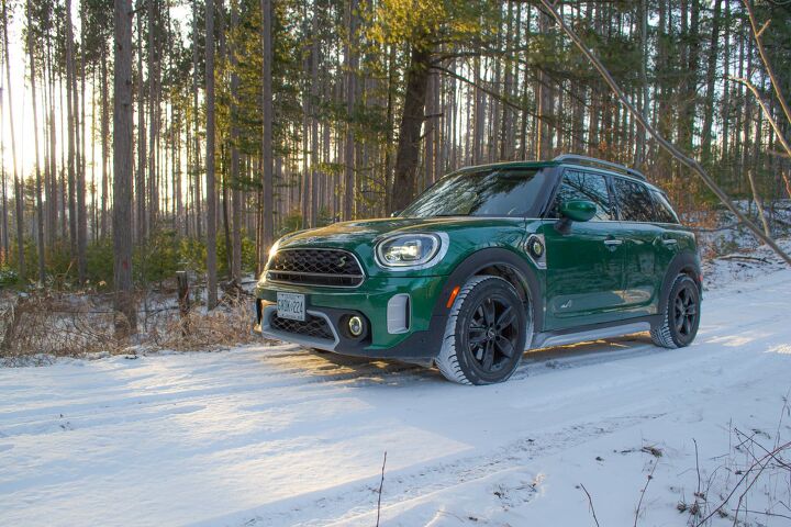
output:
M450 173L404 209L401 217L527 216L545 181L536 168L486 168Z

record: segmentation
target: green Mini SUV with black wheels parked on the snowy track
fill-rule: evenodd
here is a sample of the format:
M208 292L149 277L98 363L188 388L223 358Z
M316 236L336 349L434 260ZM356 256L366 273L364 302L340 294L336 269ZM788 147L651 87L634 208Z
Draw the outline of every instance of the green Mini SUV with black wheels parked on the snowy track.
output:
M661 190L564 155L466 168L392 217L283 236L256 296L264 336L489 384L527 349L644 330L688 346L701 270Z

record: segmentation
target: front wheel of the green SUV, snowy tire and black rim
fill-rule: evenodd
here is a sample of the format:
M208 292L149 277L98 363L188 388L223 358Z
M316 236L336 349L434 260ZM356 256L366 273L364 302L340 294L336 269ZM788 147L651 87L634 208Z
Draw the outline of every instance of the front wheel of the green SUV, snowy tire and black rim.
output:
M519 366L526 329L524 304L511 283L472 277L454 301L435 363L459 384L503 382Z

